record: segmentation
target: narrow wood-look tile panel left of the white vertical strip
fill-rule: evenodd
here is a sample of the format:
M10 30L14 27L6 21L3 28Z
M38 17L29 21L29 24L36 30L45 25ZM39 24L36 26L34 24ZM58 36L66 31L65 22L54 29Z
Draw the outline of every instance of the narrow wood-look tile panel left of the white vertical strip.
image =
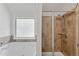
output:
M52 52L52 16L42 17L42 51Z

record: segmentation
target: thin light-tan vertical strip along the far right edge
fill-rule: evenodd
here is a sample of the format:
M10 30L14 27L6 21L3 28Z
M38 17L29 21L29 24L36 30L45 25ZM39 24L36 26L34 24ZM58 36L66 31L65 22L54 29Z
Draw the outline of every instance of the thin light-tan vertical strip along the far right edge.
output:
M76 55L79 56L79 3L76 8Z

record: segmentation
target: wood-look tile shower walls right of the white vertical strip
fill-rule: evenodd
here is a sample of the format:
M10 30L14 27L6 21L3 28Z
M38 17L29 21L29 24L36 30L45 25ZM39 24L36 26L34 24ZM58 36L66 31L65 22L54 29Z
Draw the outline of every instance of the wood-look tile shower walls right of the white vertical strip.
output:
M63 21L64 20L64 21ZM64 23L63 23L64 22ZM67 12L55 17L55 49L64 55L76 55L76 13Z

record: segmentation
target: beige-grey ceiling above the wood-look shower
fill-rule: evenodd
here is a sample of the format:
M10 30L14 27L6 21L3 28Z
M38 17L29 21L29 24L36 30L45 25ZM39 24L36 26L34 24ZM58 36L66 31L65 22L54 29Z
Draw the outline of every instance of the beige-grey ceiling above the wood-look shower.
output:
M43 11L70 11L76 7L76 3L45 3Z

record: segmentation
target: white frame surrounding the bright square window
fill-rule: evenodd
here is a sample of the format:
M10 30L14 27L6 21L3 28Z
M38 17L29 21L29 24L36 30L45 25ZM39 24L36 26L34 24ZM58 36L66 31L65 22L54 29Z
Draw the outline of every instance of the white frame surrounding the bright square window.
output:
M34 19L34 37L16 37L17 19ZM14 40L36 40L36 19L35 18L15 18Z

